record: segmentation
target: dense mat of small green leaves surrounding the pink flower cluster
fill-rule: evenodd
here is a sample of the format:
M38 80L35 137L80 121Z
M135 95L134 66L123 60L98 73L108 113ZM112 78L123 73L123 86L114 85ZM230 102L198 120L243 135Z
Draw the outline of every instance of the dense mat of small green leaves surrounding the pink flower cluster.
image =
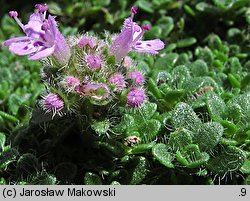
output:
M120 30L133 2L48 5L64 35L102 35ZM2 184L249 184L249 0L135 5L137 19L152 25L146 38L166 42L157 56L130 54L147 78L138 109L86 103L80 116L51 120L36 106L39 62L1 47ZM3 16L1 42L19 33Z

